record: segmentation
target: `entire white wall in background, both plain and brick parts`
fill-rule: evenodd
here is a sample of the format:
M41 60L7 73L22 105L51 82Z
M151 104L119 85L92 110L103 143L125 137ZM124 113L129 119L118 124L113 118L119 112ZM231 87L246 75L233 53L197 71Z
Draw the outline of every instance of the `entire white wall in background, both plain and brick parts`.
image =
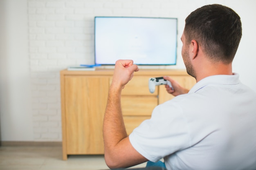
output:
M61 141L59 71L94 62L94 16L178 18L177 65L156 68L184 69L184 20L213 3L241 17L243 37L233 68L256 91L254 0L0 0L2 141Z

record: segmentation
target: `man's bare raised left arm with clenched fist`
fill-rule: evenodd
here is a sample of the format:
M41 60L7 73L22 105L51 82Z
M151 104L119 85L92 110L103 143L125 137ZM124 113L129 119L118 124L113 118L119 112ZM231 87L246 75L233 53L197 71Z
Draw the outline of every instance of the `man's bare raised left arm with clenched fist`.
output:
M130 144L121 110L121 91L135 71L139 68L132 60L118 60L115 64L103 121L105 161L109 168L127 168L147 161Z

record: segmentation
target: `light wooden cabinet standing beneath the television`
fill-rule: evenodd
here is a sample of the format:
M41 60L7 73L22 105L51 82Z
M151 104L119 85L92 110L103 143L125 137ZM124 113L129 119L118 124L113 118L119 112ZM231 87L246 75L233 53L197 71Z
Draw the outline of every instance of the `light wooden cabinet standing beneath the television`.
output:
M61 73L63 159L67 155L104 154L103 116L113 70L67 71ZM128 134L150 115L158 104L172 99L164 86L148 90L148 79L169 75L191 88L195 79L186 71L140 70L122 91L121 104Z

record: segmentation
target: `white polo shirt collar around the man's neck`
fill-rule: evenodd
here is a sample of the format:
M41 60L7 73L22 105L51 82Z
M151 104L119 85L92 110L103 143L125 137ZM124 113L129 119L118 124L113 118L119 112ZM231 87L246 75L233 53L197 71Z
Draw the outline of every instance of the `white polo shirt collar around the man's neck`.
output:
M199 82L197 82L189 91L189 93L195 93L196 91L200 90L204 86L207 86L209 84L239 84L239 74L233 73L233 75L212 75L209 77L205 77L204 79L201 79Z

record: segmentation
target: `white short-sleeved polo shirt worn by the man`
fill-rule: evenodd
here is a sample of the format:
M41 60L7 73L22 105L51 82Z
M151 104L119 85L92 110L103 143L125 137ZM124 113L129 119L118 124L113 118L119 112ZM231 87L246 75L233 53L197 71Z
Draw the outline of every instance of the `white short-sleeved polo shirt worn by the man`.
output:
M255 170L256 93L238 74L206 77L157 106L129 139L168 170Z

